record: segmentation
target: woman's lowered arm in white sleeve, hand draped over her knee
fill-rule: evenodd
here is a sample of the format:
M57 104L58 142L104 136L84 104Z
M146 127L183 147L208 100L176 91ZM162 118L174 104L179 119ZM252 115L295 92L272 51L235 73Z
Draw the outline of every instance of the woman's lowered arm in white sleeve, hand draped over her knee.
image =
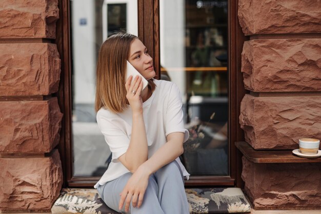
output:
M121 192L119 209L123 207L125 199L126 211L129 208L131 200L133 207L136 207L136 205L138 207L141 206L151 174L174 161L184 151L184 137L188 132L186 132L187 130L184 128L182 99L180 98L179 89L175 84L171 85L168 98L164 124L167 143L158 148L152 157L140 165L135 173L132 174ZM188 136L186 136L186 138L188 138Z

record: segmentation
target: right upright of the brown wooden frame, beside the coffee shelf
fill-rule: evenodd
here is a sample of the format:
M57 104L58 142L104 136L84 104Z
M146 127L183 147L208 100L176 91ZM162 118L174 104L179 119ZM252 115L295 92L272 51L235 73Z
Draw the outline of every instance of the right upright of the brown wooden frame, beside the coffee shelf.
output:
M228 70L229 70L229 159L230 175L235 186L244 188L241 178L242 153L236 148L235 142L244 141L244 131L239 125L240 102L245 95L243 74L241 73L241 54L243 44L248 37L238 22L238 0L228 0ZM232 134L231 134L232 133Z

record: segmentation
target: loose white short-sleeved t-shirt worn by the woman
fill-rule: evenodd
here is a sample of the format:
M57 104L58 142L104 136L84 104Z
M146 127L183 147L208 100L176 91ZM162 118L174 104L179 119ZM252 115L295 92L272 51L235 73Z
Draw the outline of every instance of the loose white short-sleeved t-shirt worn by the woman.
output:
M156 88L150 98L143 103L143 116L147 134L148 159L166 142L168 134L184 132L184 142L189 138L189 132L184 128L182 98L176 84L154 79ZM112 152L112 160L102 178L94 188L121 177L130 172L118 158L124 154L129 146L132 130L132 111L130 106L122 113L113 113L102 107L97 112L97 123ZM182 169L183 176L189 179L179 157L177 163Z

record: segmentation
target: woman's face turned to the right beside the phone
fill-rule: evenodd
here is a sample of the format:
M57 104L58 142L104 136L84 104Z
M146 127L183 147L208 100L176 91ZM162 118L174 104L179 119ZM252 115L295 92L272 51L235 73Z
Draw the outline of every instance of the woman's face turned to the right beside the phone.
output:
M135 38L130 45L128 62L130 62L146 80L150 80L156 75L152 57L148 54L145 45L137 38Z

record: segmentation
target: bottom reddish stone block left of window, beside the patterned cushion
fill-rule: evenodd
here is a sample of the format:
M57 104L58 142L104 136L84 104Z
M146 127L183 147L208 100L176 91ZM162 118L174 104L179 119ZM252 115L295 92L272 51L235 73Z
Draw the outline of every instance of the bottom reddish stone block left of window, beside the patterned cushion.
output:
M44 158L0 158L0 210L50 210L63 184L57 149Z

